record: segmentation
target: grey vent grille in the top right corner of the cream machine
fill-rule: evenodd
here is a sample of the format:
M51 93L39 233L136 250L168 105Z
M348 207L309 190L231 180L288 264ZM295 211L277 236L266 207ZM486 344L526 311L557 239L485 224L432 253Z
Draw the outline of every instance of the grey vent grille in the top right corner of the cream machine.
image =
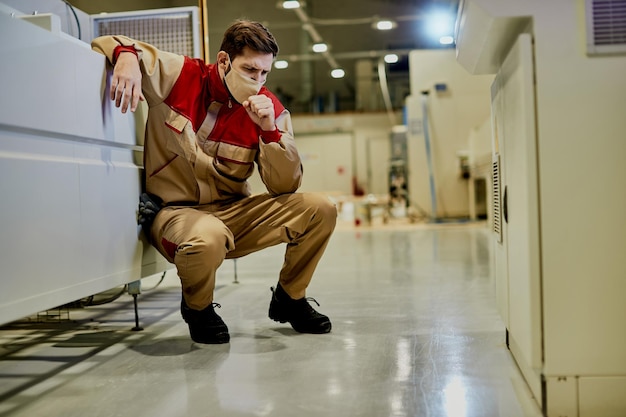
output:
M626 53L626 0L587 0L587 52Z

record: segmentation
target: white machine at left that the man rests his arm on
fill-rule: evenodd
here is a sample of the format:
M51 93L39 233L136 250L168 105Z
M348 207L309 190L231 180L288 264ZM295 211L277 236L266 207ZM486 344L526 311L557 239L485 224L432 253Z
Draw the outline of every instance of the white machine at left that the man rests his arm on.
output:
M0 324L171 268L137 225L142 126L108 99L105 57L58 16L12 10L0 3Z

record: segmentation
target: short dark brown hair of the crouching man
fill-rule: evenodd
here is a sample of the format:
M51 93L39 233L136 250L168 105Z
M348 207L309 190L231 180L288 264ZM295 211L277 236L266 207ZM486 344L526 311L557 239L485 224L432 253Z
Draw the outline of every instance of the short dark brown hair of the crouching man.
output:
M224 32L220 51L235 59L243 53L246 46L255 52L272 54L274 57L278 55L276 39L265 26L259 22L238 20Z

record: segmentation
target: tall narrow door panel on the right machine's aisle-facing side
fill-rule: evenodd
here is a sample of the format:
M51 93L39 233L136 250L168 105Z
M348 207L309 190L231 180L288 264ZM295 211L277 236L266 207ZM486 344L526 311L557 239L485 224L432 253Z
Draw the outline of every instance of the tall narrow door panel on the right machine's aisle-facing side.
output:
M508 328L524 363L542 366L539 209L533 52L522 34L494 83L494 130L501 153L503 251L508 282ZM502 259L497 260L497 265Z

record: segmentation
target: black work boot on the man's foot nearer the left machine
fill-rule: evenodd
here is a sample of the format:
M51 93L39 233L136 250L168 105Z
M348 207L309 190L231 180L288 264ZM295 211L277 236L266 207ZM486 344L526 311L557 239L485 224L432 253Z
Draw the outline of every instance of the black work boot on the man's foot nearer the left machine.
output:
M224 320L215 312L217 303L211 303L204 310L193 310L185 299L180 302L180 313L189 325L189 334L194 342L206 344L228 343L230 335Z

